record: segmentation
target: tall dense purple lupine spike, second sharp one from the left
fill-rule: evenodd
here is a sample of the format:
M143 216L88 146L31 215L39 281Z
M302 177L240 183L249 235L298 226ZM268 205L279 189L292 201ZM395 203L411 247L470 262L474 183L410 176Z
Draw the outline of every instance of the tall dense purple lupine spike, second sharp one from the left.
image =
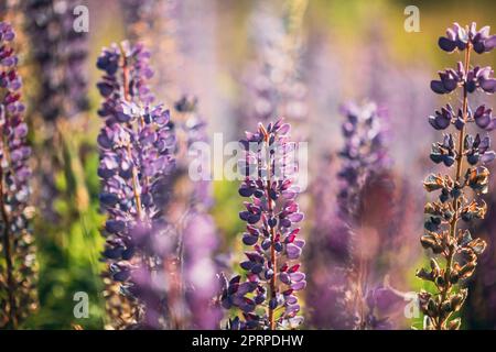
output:
M110 274L144 310L138 326L158 329L168 323L168 286L174 286L168 278L173 243L160 193L173 170L175 138L169 110L151 105L149 56L125 42L98 57L97 67L106 73L98 84L106 122L98 135L98 175Z

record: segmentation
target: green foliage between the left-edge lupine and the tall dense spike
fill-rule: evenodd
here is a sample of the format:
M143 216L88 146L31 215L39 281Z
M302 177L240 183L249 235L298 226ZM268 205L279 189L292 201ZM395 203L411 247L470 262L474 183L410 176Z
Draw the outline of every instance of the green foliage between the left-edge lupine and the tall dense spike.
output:
M46 221L41 215L34 220L40 309L28 320L28 329L104 327L103 263L99 261L99 249L104 248L99 228L104 217L98 211L98 157L89 150L82 161L77 142L64 141L64 166L54 174L56 197L51 206L57 221ZM77 292L85 292L89 297L86 319L74 317Z

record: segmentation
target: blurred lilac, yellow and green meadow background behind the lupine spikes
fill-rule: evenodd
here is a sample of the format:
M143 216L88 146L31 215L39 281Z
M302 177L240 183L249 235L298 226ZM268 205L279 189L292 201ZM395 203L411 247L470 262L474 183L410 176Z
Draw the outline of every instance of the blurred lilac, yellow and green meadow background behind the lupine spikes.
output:
M26 119L35 154L33 197L44 205L33 219L40 304L23 328L103 329L108 324L101 294L105 241L100 230L105 215L98 200L96 146L103 123L97 116L101 100L96 89L101 73L95 63L101 47L134 37L144 38L152 52L150 64L158 74L154 92L159 100L172 105L181 94L196 96L211 141L214 133L222 133L228 142L242 138L245 130L255 130L258 116L267 109L259 95L263 79L277 81L278 69L290 72L289 80L280 82L294 85L285 97L289 102L282 109L269 110L291 116L293 134L309 143L310 180L300 204L308 243L302 260L309 283L302 299L308 329L338 328L332 317L337 311L325 299L336 263L332 250L327 252L326 239L337 221L333 218L341 187L336 173L344 143L339 107L348 101L374 101L385 111L390 166L386 180L365 190L362 211L368 222L360 241L373 265L369 284L392 287L400 297L395 309L385 314L392 328L421 327L421 318L405 317L408 300L401 295L429 289L414 276L416 270L428 263L419 243L427 199L422 180L432 168L429 151L438 136L428 117L445 103L429 84L438 70L459 59L459 54L445 55L439 50L438 37L453 22L475 21L496 29L494 1L177 0L174 11L154 13L158 19L153 19L157 23L170 21L170 46L166 34L153 33L153 28L130 20L126 9L132 1L75 3L89 9L88 56L79 68L87 76L87 109L72 119L61 119L55 128L47 127L36 106L43 90L40 78L46 68L30 54L37 43L30 43L26 20L20 11L0 13L14 26L19 24ZM403 11L411 4L420 9L420 32L403 29L408 16ZM496 64L494 55L482 56L478 62ZM265 72L268 67L269 73ZM161 75L169 81L158 84ZM457 102L456 97L450 99ZM481 99L496 102L492 96ZM50 179L43 177L48 170L54 174ZM477 223L477 234L487 240L488 249L468 283L468 304L462 311L464 329L496 328L495 177L492 184L493 190L485 196L487 218ZM238 182L212 183L208 211L218 239L215 261L226 273L239 271L236 261L242 253L238 186ZM89 295L88 319L73 315L76 292Z

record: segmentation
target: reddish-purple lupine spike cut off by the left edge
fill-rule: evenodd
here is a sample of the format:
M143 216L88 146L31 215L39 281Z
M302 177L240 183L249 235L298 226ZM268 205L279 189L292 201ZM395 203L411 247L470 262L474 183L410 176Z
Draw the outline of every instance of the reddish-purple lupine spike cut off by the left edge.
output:
M28 124L21 101L22 79L12 41L15 33L0 22L0 327L17 329L36 307L35 254L29 232L31 169Z

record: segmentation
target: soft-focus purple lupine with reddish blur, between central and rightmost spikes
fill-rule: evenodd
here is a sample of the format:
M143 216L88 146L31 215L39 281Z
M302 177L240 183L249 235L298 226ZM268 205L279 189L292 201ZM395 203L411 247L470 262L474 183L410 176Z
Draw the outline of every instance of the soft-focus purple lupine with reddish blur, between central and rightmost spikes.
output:
M377 289L385 289L374 283L373 268L379 257L377 233L384 231L386 219L391 218L392 185L388 176L385 116L373 102L362 107L349 103L343 107L343 113L345 143L339 152L342 165L337 174L341 179L337 217L342 228L332 235L336 256L344 261L341 293L349 294L341 297L345 307L342 315L347 316L346 328L387 329L390 327L387 318L376 316L376 306L370 300Z

